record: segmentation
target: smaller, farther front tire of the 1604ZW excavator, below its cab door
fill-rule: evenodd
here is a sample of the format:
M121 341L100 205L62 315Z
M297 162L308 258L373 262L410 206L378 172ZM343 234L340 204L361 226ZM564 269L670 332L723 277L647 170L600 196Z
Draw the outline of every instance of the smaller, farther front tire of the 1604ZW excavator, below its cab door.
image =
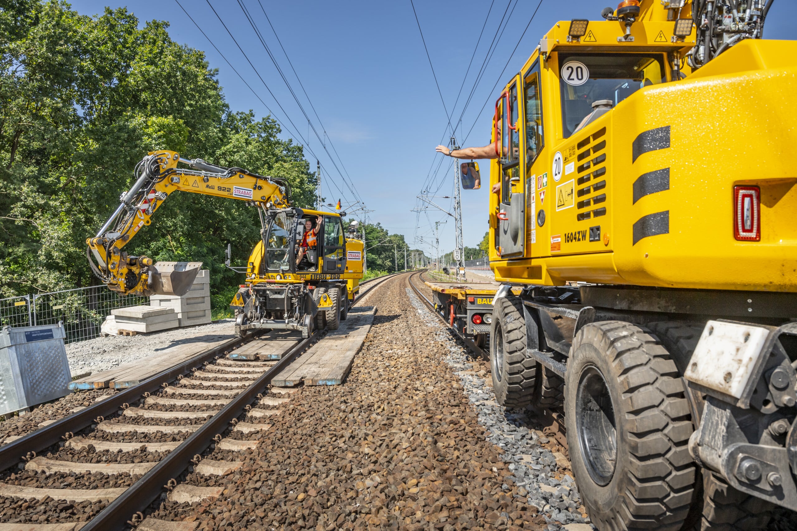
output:
M495 304L490 332L490 369L498 404L525 408L531 404L536 382L536 360L526 357L526 345L536 338L526 337L523 303L514 295L501 297Z

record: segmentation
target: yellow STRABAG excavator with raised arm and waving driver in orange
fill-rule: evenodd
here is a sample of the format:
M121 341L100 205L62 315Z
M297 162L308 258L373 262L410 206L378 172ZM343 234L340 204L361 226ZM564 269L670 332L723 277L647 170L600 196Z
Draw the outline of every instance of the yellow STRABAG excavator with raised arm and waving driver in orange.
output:
M182 163L188 168L178 167ZM122 295L185 295L198 263L160 262L130 256L122 249L171 193L178 190L245 201L257 209L261 240L246 267L227 267L246 275L230 303L235 330L249 336L258 330L338 328L359 293L363 278L363 241L358 224L344 230L345 212L329 213L291 205L285 179L264 177L242 168L184 159L169 150L152 151L135 166L136 181L122 193L116 212L93 238L86 256L92 271ZM308 232L305 235L305 232ZM309 237L308 237L309 236ZM95 263L96 261L96 263Z

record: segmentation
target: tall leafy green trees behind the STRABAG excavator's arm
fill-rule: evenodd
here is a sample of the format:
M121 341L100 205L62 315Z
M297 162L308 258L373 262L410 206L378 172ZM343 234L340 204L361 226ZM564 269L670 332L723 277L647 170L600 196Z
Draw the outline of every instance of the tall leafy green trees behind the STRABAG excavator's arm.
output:
M233 112L202 51L179 45L166 21L124 8L98 17L53 0L0 8L0 296L98 283L85 240L119 205L147 151L177 150L222 166L287 178L312 205L315 177L301 146L252 111ZM126 250L201 260L214 291L241 281L260 222L241 201L175 194Z

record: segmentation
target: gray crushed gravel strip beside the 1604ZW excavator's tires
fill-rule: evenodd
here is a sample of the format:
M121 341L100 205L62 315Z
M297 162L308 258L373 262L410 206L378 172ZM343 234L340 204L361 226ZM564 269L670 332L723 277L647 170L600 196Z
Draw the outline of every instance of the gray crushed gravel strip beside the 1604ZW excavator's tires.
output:
M588 529L587 517L575 480L569 473L569 462L563 455L554 455L550 447L556 445L541 431L529 428L534 413L528 410L504 408L495 401L489 373L474 372L476 363L466 350L454 341L451 334L430 312L410 288L406 288L418 317L434 330L430 340L446 343L449 355L446 363L461 378L468 400L476 408L479 424L486 428L489 442L501 447L501 459L512 471L518 495L525 494L529 505L535 506L548 522L548 529ZM482 377L483 376L483 377ZM558 458L558 459L557 459ZM506 487L505 487L506 488ZM522 488L522 490L520 490ZM517 497L517 495L516 495ZM592 526L589 525L589 528Z

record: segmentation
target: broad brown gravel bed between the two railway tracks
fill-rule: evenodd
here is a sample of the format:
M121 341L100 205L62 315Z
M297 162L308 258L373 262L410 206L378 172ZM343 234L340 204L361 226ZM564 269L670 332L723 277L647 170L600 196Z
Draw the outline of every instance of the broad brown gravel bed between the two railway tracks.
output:
M368 295L378 312L344 385L292 393L237 472L188 474L189 484L224 486L222 497L164 501L152 516L199 521L197 529L545 529L552 504L530 494L541 474L577 512L564 501L572 480L544 438L497 406L489 408L505 424L481 410L491 390L408 290L402 275ZM469 371L473 382L459 374ZM520 473L521 450L540 455L533 481Z

